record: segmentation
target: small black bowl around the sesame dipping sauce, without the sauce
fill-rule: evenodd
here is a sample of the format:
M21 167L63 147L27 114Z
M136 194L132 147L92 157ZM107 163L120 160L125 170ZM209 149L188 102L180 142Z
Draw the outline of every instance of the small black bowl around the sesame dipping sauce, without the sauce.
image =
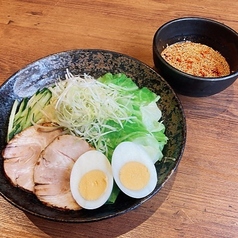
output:
M227 60L231 73L224 77L197 77L184 73L161 56L163 49L180 41L205 44L220 52ZM214 20L185 17L162 25L153 39L155 68L179 94L210 96L229 87L238 78L238 34L226 25Z

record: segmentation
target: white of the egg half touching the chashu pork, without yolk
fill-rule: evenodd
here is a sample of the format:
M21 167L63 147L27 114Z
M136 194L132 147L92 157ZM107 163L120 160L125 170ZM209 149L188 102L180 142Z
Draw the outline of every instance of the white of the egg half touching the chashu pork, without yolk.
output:
M96 200L85 199L79 191L82 177L93 170L100 170L106 175L107 186L104 193ZM113 188L111 164L107 157L97 150L82 154L75 162L70 176L70 189L75 201L85 209L96 209L102 206L110 197Z

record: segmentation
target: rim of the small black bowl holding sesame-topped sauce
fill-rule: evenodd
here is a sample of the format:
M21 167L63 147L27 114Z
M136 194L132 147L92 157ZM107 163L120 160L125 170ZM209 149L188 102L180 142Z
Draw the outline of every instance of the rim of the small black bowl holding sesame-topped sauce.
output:
M172 19L168 22L165 22L163 25L161 25L156 30L156 32L154 34L154 37L153 37L153 52L156 54L157 57L160 58L160 60L163 62L163 64L165 64L170 70L176 71L181 76L191 78L191 79L194 79L194 80L199 80L199 81L209 81L209 82L211 82L211 81L223 81L223 80L225 81L225 80L228 80L228 79L233 78L233 77L234 78L238 77L238 71L233 71L230 74L222 76L222 77L200 77L200 76L195 76L195 75L192 75L192 74L185 73L185 72L181 71L180 69L177 69L174 66L172 66L171 64L169 64L161 56L161 53L159 53L158 48L156 47L156 44L157 44L156 39L157 39L157 36L158 36L158 34L160 33L161 30L163 30L165 27L167 27L167 26L169 26L173 23L179 22L179 21L204 21L204 22L209 22L209 23L212 23L212 24L216 24L216 25L219 25L219 26L225 28L226 30L232 32L234 35L237 36L237 39L238 39L238 33L234 29L232 29L229 26L227 26L227 25L225 25L221 22L218 22L216 20L209 19L209 18L204 18L204 17L180 17L180 18L175 18L175 19Z

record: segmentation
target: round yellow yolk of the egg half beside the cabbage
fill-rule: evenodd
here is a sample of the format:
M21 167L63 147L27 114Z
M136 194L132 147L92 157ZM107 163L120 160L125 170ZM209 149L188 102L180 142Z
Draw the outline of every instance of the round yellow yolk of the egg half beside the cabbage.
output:
M121 183L128 189L141 190L149 182L150 173L142 163L131 161L124 164L120 170Z

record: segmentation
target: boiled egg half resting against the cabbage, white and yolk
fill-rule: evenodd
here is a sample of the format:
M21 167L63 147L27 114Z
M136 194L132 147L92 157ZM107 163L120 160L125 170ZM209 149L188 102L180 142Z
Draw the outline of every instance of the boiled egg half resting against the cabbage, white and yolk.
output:
M133 198L149 195L157 184L155 165L142 146L122 142L112 155L114 180L122 192Z

